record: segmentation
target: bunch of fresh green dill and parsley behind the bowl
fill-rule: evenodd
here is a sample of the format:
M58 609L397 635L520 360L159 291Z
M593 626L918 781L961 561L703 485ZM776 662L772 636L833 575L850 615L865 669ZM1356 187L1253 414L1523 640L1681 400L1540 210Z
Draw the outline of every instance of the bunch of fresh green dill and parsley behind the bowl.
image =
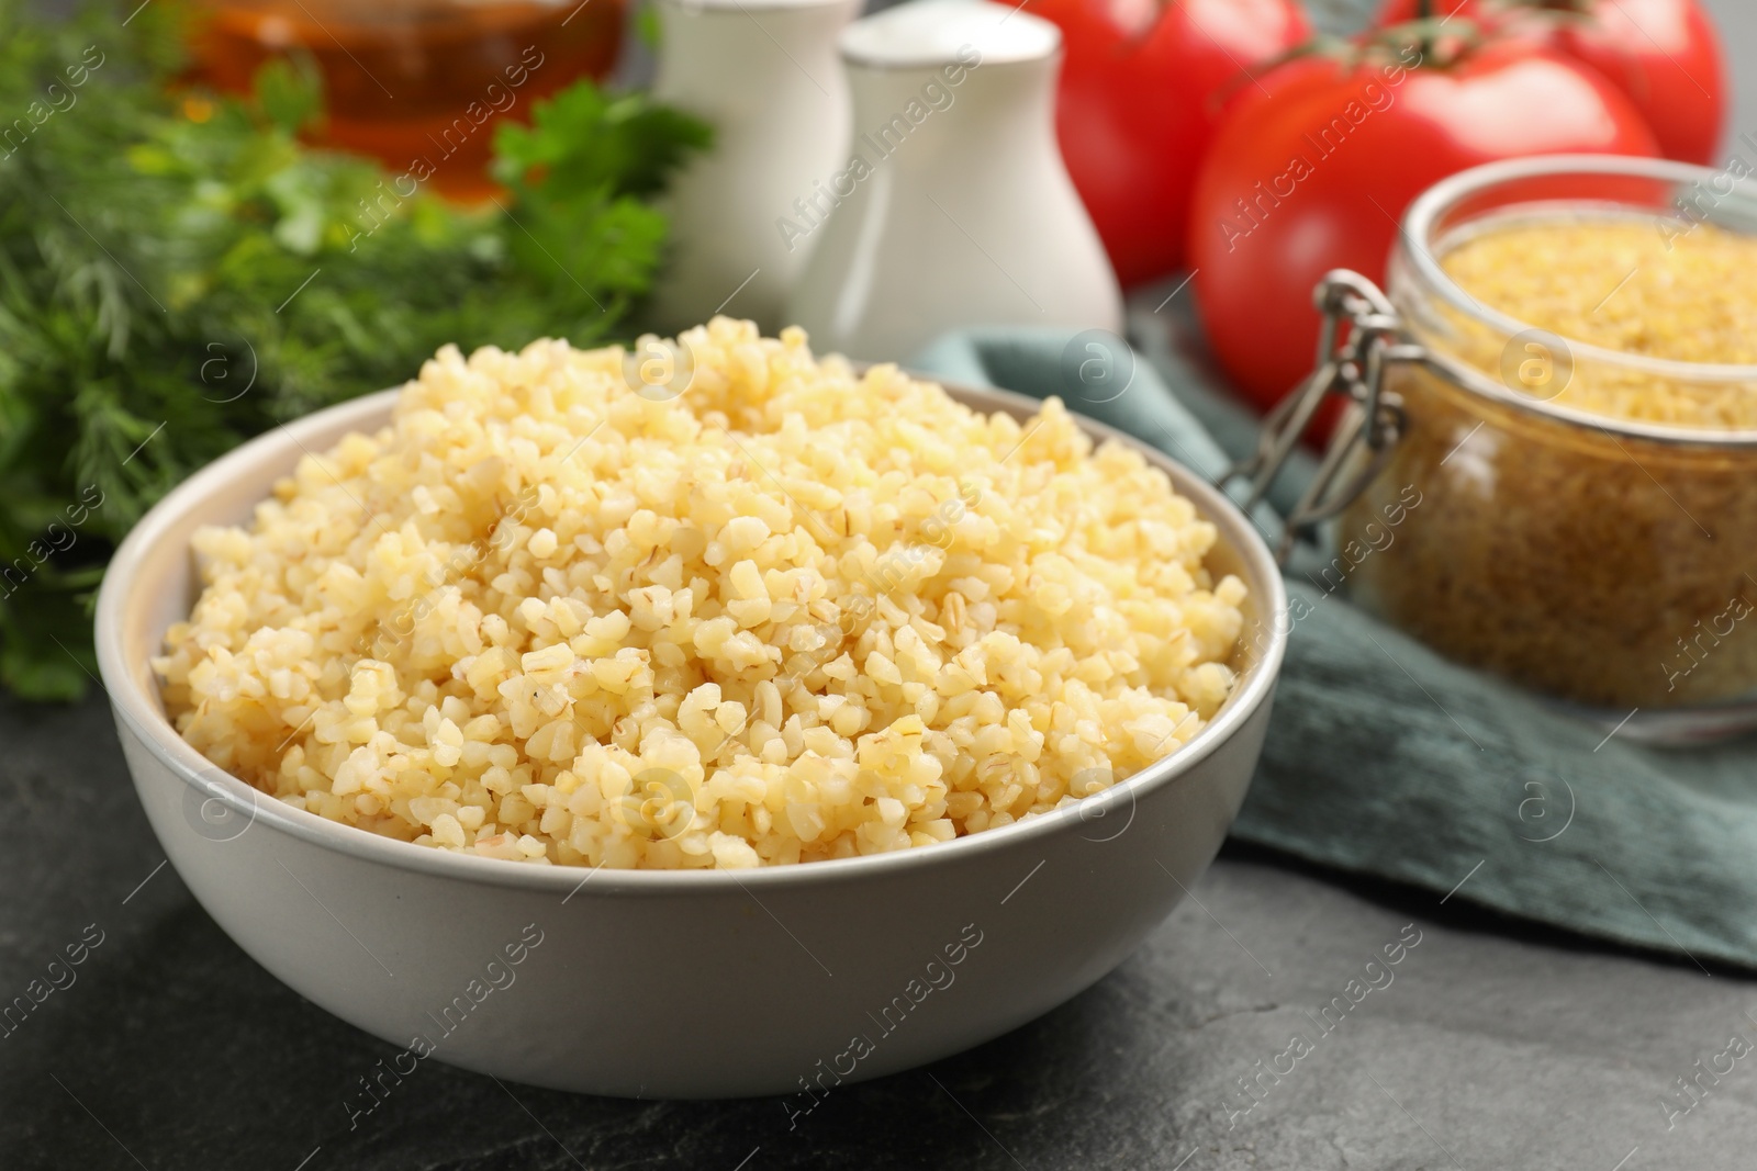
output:
M0 685L30 699L84 693L111 551L228 448L446 342L617 337L662 256L650 198L710 142L580 83L499 128L508 193L457 209L302 144L311 70L183 84L183 19L0 0Z

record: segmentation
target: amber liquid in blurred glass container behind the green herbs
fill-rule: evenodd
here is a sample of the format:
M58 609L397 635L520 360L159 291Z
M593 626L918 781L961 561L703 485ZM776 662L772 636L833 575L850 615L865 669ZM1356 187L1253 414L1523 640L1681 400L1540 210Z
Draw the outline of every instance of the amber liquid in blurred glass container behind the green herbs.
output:
M617 61L624 0L213 0L197 33L202 75L246 93L288 51L323 74L320 140L460 200L494 193L494 123Z

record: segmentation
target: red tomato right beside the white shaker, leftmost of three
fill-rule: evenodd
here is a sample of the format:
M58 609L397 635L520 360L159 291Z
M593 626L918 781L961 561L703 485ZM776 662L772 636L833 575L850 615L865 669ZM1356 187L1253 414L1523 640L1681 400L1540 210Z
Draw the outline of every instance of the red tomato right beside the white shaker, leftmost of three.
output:
M1123 284L1182 263L1197 163L1244 70L1311 35L1297 0L1037 0L1061 26L1061 156Z

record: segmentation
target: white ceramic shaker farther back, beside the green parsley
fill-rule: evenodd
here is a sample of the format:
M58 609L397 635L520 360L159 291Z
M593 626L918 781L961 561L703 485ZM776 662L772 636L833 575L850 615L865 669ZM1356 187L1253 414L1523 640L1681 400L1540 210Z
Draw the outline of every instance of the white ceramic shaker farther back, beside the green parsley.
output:
M671 251L654 320L675 332L727 313L775 332L806 256L777 235L775 216L847 160L836 33L859 0L657 0L657 11L654 97L710 121L715 144L666 197Z

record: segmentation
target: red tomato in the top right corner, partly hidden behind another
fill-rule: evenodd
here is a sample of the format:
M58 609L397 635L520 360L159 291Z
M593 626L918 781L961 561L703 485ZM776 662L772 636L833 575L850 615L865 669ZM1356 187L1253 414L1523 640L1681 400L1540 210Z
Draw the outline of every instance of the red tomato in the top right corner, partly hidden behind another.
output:
M1666 158L1715 162L1727 79L1715 21L1697 0L1432 2L1437 16L1513 28L1592 65L1629 95ZM1379 23L1411 19L1416 7L1416 0L1390 0Z

